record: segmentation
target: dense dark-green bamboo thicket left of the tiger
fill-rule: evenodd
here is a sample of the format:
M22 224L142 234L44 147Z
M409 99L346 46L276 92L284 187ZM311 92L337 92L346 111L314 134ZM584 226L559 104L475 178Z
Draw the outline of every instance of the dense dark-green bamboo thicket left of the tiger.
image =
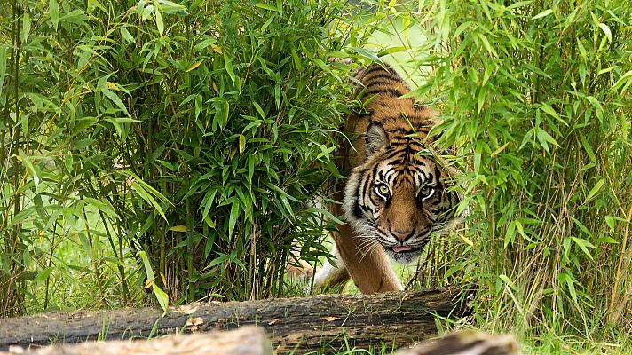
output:
M293 239L325 253L346 6L3 6L0 314L279 295Z

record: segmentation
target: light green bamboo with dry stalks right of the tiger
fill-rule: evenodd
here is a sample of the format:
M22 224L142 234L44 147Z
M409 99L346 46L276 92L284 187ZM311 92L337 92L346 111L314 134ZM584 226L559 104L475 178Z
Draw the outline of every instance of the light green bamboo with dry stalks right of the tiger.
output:
M474 244L453 264L485 285L481 324L590 337L610 319L624 329L613 315L632 277L628 2L425 9L438 30L417 93L440 99L434 131L465 158Z

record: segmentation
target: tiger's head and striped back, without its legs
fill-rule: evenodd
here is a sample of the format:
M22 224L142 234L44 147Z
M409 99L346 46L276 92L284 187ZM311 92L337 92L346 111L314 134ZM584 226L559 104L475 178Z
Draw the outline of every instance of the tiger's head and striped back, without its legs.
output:
M435 113L413 98L388 66L373 64L356 78L366 113L359 114L349 154L353 167L344 188L344 212L356 233L379 242L395 261L410 263L457 217L456 193L446 191L450 172L423 146ZM425 144L431 142L426 141Z

